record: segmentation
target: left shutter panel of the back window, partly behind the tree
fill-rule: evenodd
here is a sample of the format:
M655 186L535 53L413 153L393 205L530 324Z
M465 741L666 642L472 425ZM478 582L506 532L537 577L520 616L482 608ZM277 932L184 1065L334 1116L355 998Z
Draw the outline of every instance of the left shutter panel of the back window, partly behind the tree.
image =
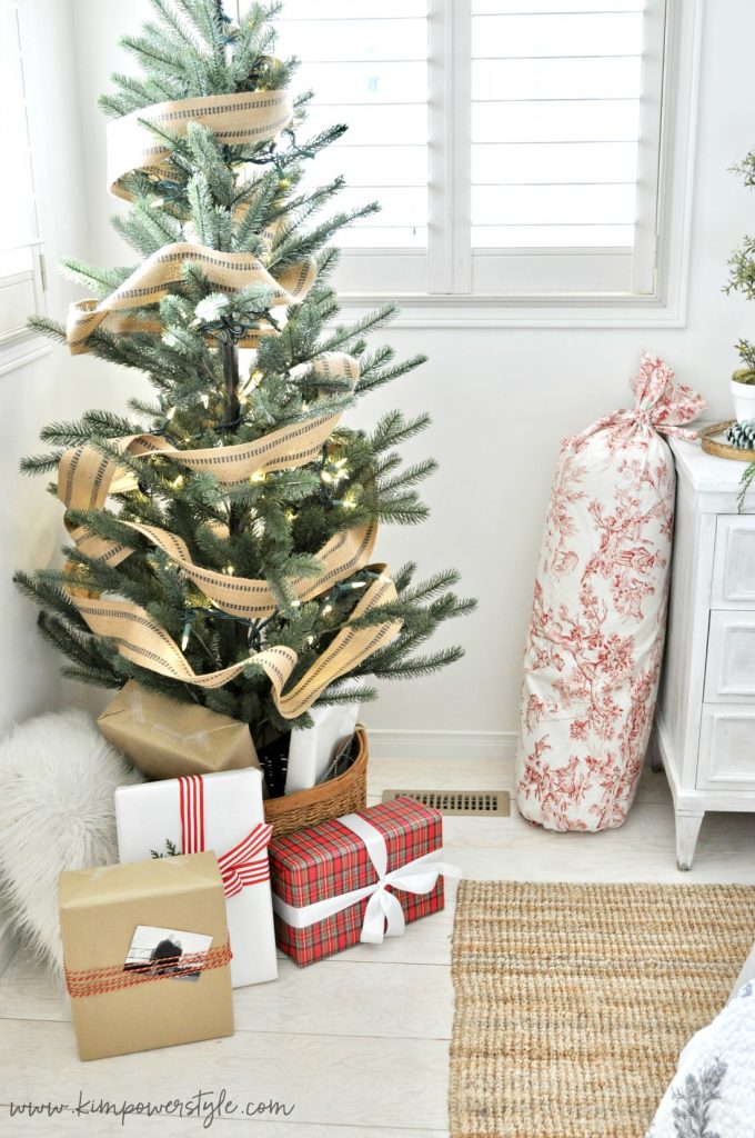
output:
M339 236L340 287L426 290L428 0L288 0L276 52L302 60L296 86L315 92L305 137L349 126L310 184L345 174L332 208L381 205Z

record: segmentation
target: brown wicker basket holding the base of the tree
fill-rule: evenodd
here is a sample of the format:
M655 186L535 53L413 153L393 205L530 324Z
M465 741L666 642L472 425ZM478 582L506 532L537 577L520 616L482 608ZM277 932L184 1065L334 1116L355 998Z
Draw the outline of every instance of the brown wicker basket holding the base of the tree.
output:
M363 810L367 805L367 733L357 727L355 737L357 757L342 775L320 786L299 790L294 794L268 798L265 801L265 820L273 826L275 838L304 830L342 814Z

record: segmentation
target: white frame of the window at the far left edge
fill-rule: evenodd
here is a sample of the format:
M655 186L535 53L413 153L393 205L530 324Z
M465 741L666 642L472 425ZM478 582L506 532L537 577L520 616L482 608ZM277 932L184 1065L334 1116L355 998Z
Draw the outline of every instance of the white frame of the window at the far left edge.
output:
M42 185L42 173L44 163L40 154L38 140L42 137L40 123L42 116L41 92L39 83L39 57L36 40L34 35L34 13L32 0L16 0L18 8L18 23L20 36L20 56L24 72L24 86L26 90L26 117L28 137L31 143L32 179L35 190L38 237L32 241L25 241L19 248L28 248L32 253L32 269L27 272L18 273L15 277L0 277L0 304L3 303L5 289L11 289L18 284L31 283L34 298L33 311L38 315L47 313L47 265L44 257L44 220L43 208L40 200L40 187ZM30 315L32 312L30 311ZM0 376L16 368L24 366L33 360L39 360L52 351L51 344L27 328L16 332L0 336Z

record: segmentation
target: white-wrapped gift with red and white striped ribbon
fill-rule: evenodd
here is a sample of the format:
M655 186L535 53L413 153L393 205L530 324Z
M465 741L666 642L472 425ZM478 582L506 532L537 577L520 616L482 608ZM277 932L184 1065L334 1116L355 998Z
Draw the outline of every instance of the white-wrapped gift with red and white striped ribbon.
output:
M234 988L277 978L259 770L188 775L115 792L118 856L140 861L171 850L214 850L225 888ZM135 792L135 793L134 793Z

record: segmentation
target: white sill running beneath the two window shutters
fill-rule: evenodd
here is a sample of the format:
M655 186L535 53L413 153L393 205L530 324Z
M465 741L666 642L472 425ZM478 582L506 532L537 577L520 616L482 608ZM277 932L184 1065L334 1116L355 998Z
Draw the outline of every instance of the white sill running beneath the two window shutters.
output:
M392 328L683 328L681 306L658 297L619 295L449 296L428 294L339 294L348 318L395 300Z

